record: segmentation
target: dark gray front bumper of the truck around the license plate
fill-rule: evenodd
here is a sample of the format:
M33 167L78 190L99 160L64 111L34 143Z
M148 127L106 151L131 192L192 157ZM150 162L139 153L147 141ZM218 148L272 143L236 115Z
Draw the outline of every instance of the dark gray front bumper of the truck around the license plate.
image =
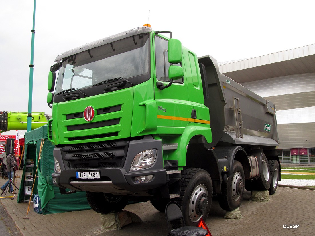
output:
M153 166L144 170L129 171L131 163L138 153L157 149L157 158ZM143 139L130 141L127 156L123 167L114 168L93 168L93 169L65 169L65 160L62 160L62 148L54 149L54 157L61 163L61 173L52 174L53 183L60 188L73 190L104 192L116 195L137 195L149 196L149 190L167 184L166 170L163 168L162 142L155 140L152 136L145 136ZM70 165L71 166L71 165ZM77 171L100 171L100 180L78 180ZM135 177L153 175L149 182L136 183Z

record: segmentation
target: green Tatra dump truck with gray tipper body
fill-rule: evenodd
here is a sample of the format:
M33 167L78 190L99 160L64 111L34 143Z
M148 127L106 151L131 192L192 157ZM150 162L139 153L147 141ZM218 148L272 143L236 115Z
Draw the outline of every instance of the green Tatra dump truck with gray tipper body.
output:
M214 195L231 211L244 188L276 191L274 104L220 74L214 58L197 58L172 32L146 25L55 62L48 136L61 193L86 191L100 213L129 200L164 211L176 200L186 224L197 225Z

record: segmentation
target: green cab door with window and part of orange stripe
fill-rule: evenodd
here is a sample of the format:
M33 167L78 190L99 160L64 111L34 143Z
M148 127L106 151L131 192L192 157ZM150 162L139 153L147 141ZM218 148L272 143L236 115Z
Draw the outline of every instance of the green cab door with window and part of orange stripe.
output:
M154 93L157 103L157 133L182 134L188 123L193 122L193 105L189 102L187 82L184 78L173 80L170 87L160 90L157 82L169 83L167 57L168 41L162 37L154 37Z

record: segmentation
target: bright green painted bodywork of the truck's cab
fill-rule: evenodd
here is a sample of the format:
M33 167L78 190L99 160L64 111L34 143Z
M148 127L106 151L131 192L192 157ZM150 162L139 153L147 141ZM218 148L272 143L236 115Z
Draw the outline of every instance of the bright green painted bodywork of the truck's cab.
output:
M53 144L66 145L153 135L156 139L162 139L162 143L178 143L176 150L164 150L163 158L178 160L179 169L182 169L186 164L186 146L191 138L202 135L207 142L212 142L209 108L203 102L197 56L188 49L181 48L183 54L180 57L181 66L174 65L174 67L183 68L183 80L182 82L180 79L174 80L171 86L160 90L156 84L159 82L167 85L169 81L157 79L154 36L155 33L151 32L149 80L130 88L53 103L53 118L48 124L48 137ZM163 35L159 37L169 40ZM174 47L177 47L179 41L174 40L174 42ZM179 51L178 48L174 50ZM178 55L172 57L175 61L179 60ZM174 59L175 57L177 59ZM68 127L87 124L83 117L67 119L69 114L82 113L87 106L93 106L98 110L118 105L121 105L121 110L97 115L93 122L119 119L119 124L84 130L68 129ZM198 119L192 117L193 110L197 110ZM107 137L101 137L107 134ZM79 139L75 140L76 138Z

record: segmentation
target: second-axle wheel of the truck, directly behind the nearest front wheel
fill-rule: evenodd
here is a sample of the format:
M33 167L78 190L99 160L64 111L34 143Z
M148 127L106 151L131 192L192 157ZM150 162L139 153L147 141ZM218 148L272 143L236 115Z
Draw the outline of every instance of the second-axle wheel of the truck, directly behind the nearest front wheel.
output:
M239 161L234 161L233 176L228 177L227 183L222 183L221 194L218 201L223 210L233 211L238 208L243 200L244 170Z

